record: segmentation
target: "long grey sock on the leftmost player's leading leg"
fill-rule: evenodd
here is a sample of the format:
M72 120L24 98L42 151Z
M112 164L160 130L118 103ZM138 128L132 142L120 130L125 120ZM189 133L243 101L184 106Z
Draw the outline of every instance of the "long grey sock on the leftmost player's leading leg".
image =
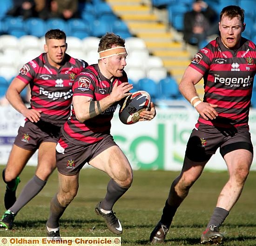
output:
M46 181L41 180L38 176L27 182L22 189L17 201L9 208L14 214L17 214L22 207L24 207L30 200L32 200L45 186Z

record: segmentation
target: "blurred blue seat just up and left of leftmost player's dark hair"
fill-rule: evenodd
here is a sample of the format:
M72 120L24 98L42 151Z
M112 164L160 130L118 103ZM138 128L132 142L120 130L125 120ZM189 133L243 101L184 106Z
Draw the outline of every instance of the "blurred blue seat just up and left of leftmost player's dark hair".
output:
M27 34L36 36L38 38L43 37L47 32L47 26L43 19L37 17L31 17L24 20L25 29Z

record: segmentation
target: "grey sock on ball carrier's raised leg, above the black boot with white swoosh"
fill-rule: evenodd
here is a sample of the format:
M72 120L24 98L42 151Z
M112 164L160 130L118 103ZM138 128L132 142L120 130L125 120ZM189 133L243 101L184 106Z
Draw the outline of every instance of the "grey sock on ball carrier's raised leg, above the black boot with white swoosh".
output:
M119 186L113 179L108 182L107 194L101 201L101 208L104 210L112 210L115 202L127 192L128 188Z

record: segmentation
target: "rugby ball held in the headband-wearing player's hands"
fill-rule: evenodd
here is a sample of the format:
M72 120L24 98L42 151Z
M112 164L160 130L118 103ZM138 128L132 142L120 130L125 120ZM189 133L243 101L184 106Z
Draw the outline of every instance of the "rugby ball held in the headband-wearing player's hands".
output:
M141 111L149 110L150 102L151 97L147 91L135 91L125 98L119 110L119 119L126 125L138 122Z

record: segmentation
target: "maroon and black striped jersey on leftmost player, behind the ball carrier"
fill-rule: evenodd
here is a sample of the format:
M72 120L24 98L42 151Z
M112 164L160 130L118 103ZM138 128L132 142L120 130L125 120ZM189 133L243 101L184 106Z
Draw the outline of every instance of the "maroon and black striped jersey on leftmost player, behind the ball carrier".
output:
M74 78L88 64L65 54L63 65L57 69L42 53L21 69L16 78L31 88L31 108L41 110L41 119L57 125L63 125L70 117L72 86Z

